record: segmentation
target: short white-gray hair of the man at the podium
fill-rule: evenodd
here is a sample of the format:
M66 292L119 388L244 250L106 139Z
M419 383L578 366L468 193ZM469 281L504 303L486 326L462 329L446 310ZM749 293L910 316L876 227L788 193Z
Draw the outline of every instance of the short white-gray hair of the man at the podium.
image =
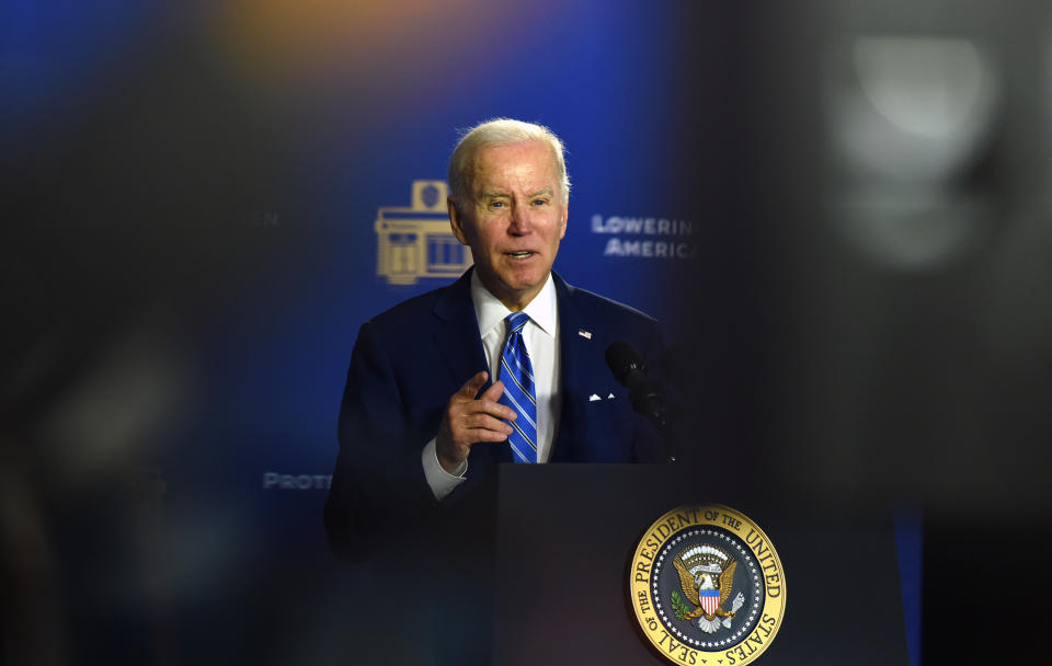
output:
M526 141L544 141L551 147L559 172L560 194L565 202L570 196L570 176L567 174L562 140L556 136L556 133L536 123L493 118L465 131L453 154L449 156L449 190L453 192L453 200L457 209L464 210L470 198L468 170L471 168L471 159L479 150L490 146L511 146Z

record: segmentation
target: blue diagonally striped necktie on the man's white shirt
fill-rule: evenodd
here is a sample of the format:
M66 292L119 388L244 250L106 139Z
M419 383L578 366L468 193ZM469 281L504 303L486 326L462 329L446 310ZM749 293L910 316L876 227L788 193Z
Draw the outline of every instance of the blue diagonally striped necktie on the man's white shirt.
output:
M534 390L534 366L529 363L523 326L529 321L525 312L513 312L504 318L507 324L507 342L501 355L501 381L504 392L498 401L518 413L518 418L508 421L515 462L537 462L537 392Z

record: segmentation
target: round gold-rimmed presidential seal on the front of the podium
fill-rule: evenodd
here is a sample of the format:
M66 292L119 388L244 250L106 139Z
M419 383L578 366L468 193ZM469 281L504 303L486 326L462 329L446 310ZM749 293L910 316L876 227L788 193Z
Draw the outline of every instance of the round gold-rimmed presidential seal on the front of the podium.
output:
M752 664L786 609L786 576L767 535L719 505L681 506L651 525L628 587L643 633L675 664Z

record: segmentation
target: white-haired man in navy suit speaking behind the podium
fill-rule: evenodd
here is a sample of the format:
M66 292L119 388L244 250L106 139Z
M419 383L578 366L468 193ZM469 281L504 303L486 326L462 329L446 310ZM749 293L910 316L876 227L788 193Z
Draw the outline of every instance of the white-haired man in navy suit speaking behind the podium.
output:
M604 359L625 340L654 367L656 322L552 272L569 215L559 138L534 124L483 123L454 151L449 184L453 232L474 265L363 324L352 354L324 513L333 550L350 560L392 531L461 510L453 507L492 483L498 462L662 457L660 434ZM516 409L524 393L508 388L522 384L506 365L513 320L518 358L528 358L527 413Z

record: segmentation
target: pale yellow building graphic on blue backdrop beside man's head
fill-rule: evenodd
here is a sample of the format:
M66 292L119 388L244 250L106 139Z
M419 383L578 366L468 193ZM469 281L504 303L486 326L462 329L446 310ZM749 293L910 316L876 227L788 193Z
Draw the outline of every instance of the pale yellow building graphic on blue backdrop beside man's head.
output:
M471 265L471 251L449 230L444 181L413 181L413 205L381 206L376 215L376 274L390 285L422 277L455 278Z

